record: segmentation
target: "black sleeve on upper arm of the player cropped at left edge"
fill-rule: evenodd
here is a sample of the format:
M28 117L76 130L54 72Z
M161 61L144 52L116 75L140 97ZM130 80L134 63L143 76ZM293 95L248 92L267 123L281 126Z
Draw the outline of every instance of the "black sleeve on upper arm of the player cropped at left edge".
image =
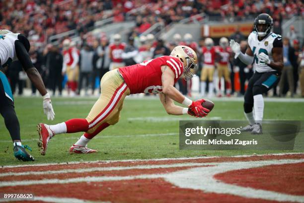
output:
M34 68L32 60L26 48L24 47L23 43L20 40L15 41L15 51L16 51L16 56L25 71L27 71L30 68Z

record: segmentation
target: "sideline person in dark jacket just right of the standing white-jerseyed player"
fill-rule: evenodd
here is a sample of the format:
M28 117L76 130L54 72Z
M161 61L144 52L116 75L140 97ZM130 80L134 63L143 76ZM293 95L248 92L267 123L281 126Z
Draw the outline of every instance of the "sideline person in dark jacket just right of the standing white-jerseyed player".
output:
M289 38L284 37L283 39L283 60L284 60L284 68L282 71L281 80L279 83L280 87L280 97L283 96L284 93L284 85L286 82L285 77L287 77L287 82L289 85L289 91L291 93L291 96L294 96L294 73L293 73L293 66L295 66L294 62L297 62L295 60L295 49L290 45Z

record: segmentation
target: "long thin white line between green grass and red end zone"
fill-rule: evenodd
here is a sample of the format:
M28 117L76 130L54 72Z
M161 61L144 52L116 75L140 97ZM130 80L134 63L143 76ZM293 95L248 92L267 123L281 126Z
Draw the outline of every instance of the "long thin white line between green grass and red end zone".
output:
M179 157L179 158L160 158L160 159L125 159L125 160L96 160L96 161L72 161L62 163L46 163L46 164L29 164L29 165L6 165L0 168L18 168L29 166L51 166L51 165L68 165L68 164L93 164L93 163L116 163L116 162L144 162L144 161L175 161L175 160L192 160L192 159L213 159L213 158L241 158L241 157L253 157L253 156L284 156L284 155L304 155L303 152L296 153L277 153L277 154L253 154L253 155L236 155L236 156L203 156L203 157Z

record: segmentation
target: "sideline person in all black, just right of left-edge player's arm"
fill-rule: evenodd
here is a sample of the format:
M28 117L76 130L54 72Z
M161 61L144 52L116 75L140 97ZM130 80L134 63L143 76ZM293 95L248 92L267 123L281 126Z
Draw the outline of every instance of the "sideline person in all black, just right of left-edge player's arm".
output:
M56 93L58 88L59 96L62 95L62 67L63 67L63 55L57 46L48 45L45 57L45 66L49 72L48 86L53 91L53 95Z

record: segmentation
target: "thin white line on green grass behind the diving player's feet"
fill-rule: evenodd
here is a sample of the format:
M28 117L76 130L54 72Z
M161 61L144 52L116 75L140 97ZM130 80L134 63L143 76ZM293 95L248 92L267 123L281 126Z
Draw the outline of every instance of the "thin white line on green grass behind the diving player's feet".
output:
M94 137L94 139L102 139L102 138L116 138L116 137L147 137L147 136L169 136L169 135L178 135L179 133L159 133L159 134L139 134L139 135L100 135L97 137ZM62 137L58 138L58 136L54 137L55 139L61 139L61 140L77 140L78 137ZM53 139L54 139L53 138ZM22 142L28 142L28 141L37 141L37 139L22 139ZM9 142L11 143L11 140L0 140L1 142Z

